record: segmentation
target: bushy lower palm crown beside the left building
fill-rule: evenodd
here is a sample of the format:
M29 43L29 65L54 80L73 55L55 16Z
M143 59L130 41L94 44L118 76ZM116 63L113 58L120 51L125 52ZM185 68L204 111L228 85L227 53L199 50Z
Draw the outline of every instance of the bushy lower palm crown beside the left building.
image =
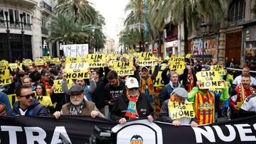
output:
M55 42L61 41L65 44L83 43L87 40L87 33L82 32L81 23L75 23L75 18L70 15L58 14L50 24L50 37Z

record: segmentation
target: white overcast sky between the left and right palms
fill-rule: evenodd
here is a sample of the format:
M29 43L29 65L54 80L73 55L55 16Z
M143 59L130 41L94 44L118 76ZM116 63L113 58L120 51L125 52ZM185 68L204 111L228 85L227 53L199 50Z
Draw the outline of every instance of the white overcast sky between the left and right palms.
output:
M125 18L126 14L124 8L129 0L89 0L94 4L95 9L100 11L102 16L105 17L106 26L105 34L118 40L117 35L119 33L117 25L119 23L119 18Z

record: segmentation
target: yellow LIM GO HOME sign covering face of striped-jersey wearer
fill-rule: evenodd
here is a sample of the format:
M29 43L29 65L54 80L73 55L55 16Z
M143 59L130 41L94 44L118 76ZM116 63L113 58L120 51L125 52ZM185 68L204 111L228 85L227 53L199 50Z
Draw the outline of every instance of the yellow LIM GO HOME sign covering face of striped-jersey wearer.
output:
M220 74L216 71L197 72L196 78L201 80L200 89L223 88L224 84L220 81Z

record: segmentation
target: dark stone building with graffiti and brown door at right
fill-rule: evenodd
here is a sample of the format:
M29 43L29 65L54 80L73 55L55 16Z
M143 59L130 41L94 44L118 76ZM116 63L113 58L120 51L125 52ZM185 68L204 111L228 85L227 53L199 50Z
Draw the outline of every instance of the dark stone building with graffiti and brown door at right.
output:
M210 18L201 22L188 29L188 52L194 58L224 60L228 57L234 58L238 64L256 62L256 0L227 0L220 23ZM170 29L169 25L166 25L166 31ZM178 55L184 55L183 23L177 27L178 34L176 27L172 26L173 33L164 37L165 55L176 50ZM174 45L176 39L178 49Z

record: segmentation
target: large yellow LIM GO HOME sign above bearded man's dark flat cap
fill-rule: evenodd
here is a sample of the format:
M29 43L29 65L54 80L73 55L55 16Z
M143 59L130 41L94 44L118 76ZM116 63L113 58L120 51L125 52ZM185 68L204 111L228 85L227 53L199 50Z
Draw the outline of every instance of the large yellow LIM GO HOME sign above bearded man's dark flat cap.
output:
M65 65L65 72L67 79L89 79L89 65L87 62L67 63Z

